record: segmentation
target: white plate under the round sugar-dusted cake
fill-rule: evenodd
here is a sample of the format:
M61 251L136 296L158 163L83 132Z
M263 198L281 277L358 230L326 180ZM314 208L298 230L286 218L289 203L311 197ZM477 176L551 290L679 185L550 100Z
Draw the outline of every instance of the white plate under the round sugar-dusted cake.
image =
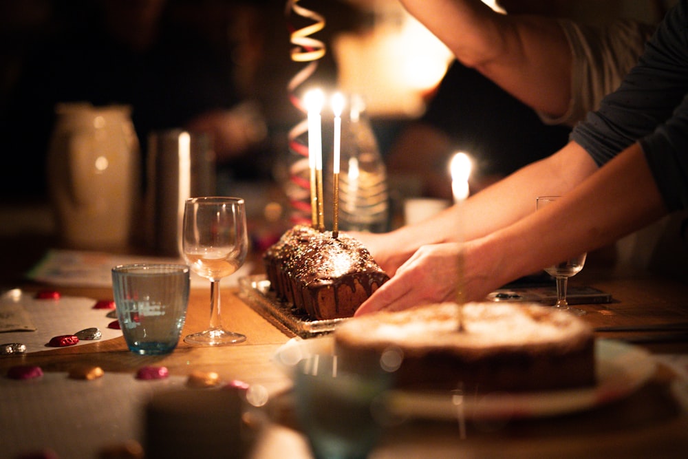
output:
M304 356L334 350L332 337L292 339L275 353L275 362L291 374ZM466 418L535 418L590 409L629 396L654 375L656 363L649 352L608 339L595 344L596 385L548 392L494 392L461 396L457 392L394 391L391 409L413 418L455 420Z

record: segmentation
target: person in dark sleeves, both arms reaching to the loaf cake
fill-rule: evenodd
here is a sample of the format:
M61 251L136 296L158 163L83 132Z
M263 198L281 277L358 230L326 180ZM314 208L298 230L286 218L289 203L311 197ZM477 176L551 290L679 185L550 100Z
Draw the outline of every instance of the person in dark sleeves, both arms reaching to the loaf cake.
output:
M435 12L438 23L443 21L437 18L448 17L447 10L441 11ZM552 156L519 169L431 220L385 235L363 235L376 260L393 277L357 314L455 299L460 257L464 297L480 300L520 275L685 211L686 30L688 1L680 0L647 42L638 65L603 98L597 111L574 128L566 147ZM521 44L528 49L527 40ZM533 203L539 195L563 198L535 213ZM462 235L458 226L464 228ZM685 224L680 235L685 253ZM672 275L685 279L685 260L682 257Z

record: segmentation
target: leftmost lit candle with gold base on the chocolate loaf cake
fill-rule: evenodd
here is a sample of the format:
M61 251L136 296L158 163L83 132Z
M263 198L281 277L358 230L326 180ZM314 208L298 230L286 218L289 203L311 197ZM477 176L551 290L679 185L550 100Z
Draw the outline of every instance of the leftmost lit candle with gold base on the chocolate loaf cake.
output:
M304 103L308 110L308 167L310 168L310 206L311 221L314 228L319 227L319 205L322 195L318 193L318 168L323 168L323 138L320 111L323 108L323 92L312 89L305 94Z

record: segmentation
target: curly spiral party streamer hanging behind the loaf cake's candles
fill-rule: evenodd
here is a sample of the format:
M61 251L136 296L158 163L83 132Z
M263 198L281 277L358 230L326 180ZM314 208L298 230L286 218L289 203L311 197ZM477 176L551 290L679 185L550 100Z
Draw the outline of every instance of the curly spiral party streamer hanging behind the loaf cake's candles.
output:
M295 74L287 85L289 100L302 113L305 113L303 101L296 95L296 90L308 78L314 74L318 67L318 61L325 56L325 43L313 39L310 35L325 28L325 17L307 8L297 5L299 0L288 0L286 3L286 17L296 14L312 21L310 25L303 28L294 28L288 24L290 32L290 43L294 45L290 52L292 61L308 63L303 69ZM294 223L305 224L310 221L308 214L312 211L310 202L309 180L310 167L308 163L308 146L303 143L303 134L308 131L308 120L304 119L292 127L288 133L290 166L289 184L287 195L292 207L292 221ZM294 158L295 157L295 158Z

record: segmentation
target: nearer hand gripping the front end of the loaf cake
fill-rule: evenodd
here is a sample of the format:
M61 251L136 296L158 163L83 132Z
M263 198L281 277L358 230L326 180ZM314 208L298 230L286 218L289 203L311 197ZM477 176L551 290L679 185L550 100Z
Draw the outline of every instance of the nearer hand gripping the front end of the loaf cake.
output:
M378 288L354 315L455 301L461 250L460 244L420 247L396 270L394 277Z

